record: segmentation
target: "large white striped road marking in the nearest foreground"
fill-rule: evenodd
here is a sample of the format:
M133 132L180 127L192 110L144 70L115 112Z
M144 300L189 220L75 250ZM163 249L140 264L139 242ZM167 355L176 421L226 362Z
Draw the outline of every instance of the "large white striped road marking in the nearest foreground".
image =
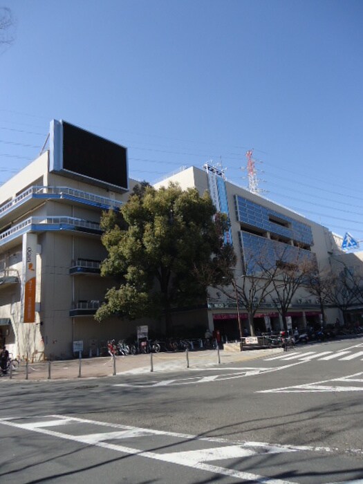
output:
M102 452L120 452L156 460L166 465L189 467L196 472L214 474L212 480L219 475L235 478L236 482L261 484L293 484L286 480L285 473L281 474L281 478L275 473L274 476L258 474L257 466L263 457L283 454L281 458L284 461L290 455L296 464L297 454L304 453L301 455L304 459L306 453L330 454L334 450L328 447L299 447L201 437L64 415L0 418L0 427L2 426L35 432L48 438L71 440L87 447L98 447ZM362 449L358 450L363 453ZM239 464L235 465L236 462ZM251 472L251 469L254 469L254 472ZM262 469L266 471L266 467L262 466ZM294 482L296 483L295 479Z

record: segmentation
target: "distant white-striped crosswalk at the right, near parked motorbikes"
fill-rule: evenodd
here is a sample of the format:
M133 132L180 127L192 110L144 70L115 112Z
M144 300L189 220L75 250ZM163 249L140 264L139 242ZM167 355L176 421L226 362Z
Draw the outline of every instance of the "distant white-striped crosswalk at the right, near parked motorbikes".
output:
M353 349L345 349L342 351L293 351L293 353L282 353L277 356L263 358L263 361L284 361L289 362L293 360L309 362L311 360L328 362L331 360L338 360L341 362L348 362L352 360L363 361L363 351L356 351Z

